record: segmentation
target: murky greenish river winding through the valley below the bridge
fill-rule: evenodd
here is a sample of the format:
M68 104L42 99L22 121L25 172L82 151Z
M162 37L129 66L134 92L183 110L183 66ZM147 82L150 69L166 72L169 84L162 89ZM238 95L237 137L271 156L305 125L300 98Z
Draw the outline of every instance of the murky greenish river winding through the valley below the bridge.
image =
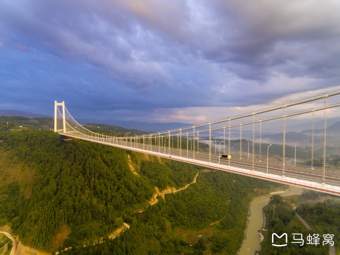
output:
M296 186L289 186L289 189L279 193L281 196L296 195L302 193L302 188ZM237 255L254 255L256 250L261 248L261 236L258 232L263 225L262 208L265 206L270 196L273 193L267 195L261 195L254 197L249 205L250 215L248 217L248 224L245 230L245 239L237 253Z

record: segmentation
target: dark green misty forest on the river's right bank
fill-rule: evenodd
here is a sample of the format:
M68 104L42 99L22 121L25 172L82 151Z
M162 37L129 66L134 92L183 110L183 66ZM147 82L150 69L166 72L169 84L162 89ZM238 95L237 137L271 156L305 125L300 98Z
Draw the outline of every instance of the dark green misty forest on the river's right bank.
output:
M268 205L263 208L266 217L264 239L261 243L260 254L328 254L329 244L326 242L328 234L334 242L336 250L340 249L340 203L337 198L328 199L314 191L304 191L292 201L283 199L280 195L270 197ZM307 229L297 218L296 212L310 225ZM272 234L281 236L287 234L287 242L283 237L272 240ZM302 240L303 239L303 240ZM272 244L285 246L274 246Z

